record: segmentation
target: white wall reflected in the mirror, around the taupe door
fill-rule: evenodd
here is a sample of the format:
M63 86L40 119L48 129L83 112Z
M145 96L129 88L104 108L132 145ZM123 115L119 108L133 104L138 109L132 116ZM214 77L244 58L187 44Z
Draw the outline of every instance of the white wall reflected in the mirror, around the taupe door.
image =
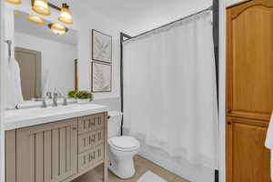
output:
M15 32L15 46L42 53L42 92L54 91L62 94L74 90L74 60L77 58L76 45Z

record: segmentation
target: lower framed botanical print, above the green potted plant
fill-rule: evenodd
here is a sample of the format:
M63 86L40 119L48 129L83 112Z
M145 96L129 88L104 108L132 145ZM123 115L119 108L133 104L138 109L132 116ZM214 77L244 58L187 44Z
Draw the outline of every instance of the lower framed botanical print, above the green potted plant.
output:
M112 91L112 66L106 63L92 62L92 92Z

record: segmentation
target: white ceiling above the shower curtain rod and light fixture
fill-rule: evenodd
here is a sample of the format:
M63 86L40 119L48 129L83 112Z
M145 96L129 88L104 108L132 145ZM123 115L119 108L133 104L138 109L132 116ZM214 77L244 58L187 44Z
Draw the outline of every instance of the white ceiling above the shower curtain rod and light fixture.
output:
M191 15L212 5L212 0L48 0L70 5L72 14L82 17L94 13L114 20L128 35L137 35ZM93 13L93 14L92 14Z

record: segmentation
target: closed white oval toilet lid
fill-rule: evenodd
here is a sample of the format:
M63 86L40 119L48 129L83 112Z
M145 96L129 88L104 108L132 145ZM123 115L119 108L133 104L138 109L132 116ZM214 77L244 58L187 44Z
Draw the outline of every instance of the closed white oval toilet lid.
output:
M120 149L132 149L139 146L136 138L131 136L115 136L109 139L109 143Z

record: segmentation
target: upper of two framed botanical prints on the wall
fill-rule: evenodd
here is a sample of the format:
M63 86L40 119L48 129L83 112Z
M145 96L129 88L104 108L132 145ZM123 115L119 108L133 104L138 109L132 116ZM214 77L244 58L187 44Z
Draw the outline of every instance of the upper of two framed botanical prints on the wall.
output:
M92 30L92 59L112 63L112 36Z

